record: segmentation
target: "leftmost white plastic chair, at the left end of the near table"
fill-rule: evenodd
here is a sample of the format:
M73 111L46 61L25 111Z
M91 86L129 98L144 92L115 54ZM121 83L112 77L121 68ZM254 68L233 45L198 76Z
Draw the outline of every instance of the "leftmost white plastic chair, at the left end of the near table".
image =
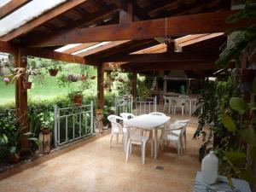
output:
M119 135L123 136L123 134L124 134L123 126L117 121L118 119L119 120L124 120L123 118L121 118L117 115L114 115L114 114L111 114L111 115L108 116L108 120L111 123L110 148L112 146L113 136L114 135L116 136L116 143L119 143Z

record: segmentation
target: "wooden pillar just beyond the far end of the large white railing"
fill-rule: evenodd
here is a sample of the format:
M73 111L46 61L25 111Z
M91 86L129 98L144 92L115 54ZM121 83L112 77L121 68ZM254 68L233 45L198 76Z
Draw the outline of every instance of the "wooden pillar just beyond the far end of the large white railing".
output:
M97 67L97 108L104 107L104 70L102 63Z

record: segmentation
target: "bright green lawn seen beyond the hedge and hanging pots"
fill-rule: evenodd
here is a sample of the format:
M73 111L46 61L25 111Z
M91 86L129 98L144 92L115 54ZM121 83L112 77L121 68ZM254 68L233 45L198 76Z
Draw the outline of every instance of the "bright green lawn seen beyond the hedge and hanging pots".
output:
M80 66L67 64L68 73L80 73ZM91 73L96 73L91 69ZM60 75L60 74L58 74ZM84 90L84 94L96 95L96 79L90 89ZM37 79L32 80L32 89L28 90L28 97L31 100L49 100L57 96L67 96L69 90L75 89L79 83L71 83L66 87L59 87L57 76L51 77L46 73L44 84L40 84ZM15 84L6 85L3 83L3 77L0 77L0 105L15 102Z

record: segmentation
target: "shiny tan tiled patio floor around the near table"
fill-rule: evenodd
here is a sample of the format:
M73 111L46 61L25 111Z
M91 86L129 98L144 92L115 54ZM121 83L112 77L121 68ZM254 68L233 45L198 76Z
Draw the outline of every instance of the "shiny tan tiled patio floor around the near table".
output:
M200 142L191 139L194 131L195 125L190 125L188 148L180 160L175 148L170 146L160 151L157 160L150 157L148 148L145 165L141 164L140 149L134 148L129 162L125 163L121 143L114 143L109 149L108 135L3 179L0 191L190 192L195 173L200 169Z

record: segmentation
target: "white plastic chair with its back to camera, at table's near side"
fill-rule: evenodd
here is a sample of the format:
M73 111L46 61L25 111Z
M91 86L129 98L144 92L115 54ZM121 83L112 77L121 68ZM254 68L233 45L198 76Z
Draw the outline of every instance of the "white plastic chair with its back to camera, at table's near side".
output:
M131 154L132 145L136 144L141 146L142 162L145 164L146 143L148 142L149 137L144 133L148 131L136 127L128 127L127 131L129 132L129 140L126 148L126 162L128 162L129 154Z

